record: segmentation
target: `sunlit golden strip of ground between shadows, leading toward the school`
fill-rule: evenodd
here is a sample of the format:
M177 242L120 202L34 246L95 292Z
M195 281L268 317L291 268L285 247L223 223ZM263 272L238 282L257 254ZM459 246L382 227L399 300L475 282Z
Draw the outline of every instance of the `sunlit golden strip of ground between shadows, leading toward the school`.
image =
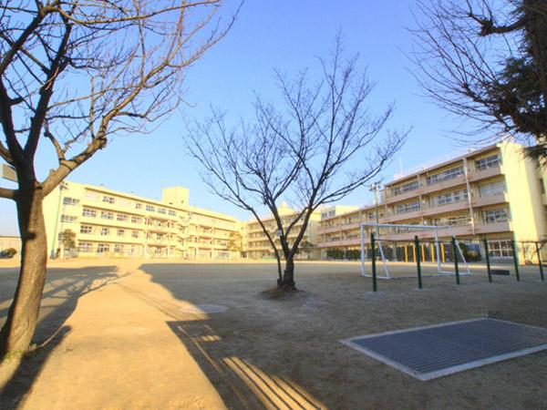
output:
M180 313L184 302L137 266L125 269L89 283L94 290L79 297L77 309L50 341L55 346L45 347L52 350L19 403L22 408L226 408L166 323L192 320ZM57 293L44 304L67 300Z

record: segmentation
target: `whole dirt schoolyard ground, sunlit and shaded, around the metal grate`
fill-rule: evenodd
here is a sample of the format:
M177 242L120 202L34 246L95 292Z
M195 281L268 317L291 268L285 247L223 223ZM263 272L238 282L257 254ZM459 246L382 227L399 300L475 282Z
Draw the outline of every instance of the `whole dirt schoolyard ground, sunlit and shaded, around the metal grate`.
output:
M394 279L376 293L357 263L296 269L304 292L273 301L261 292L274 263L53 261L36 351L0 408L547 408L547 352L420 382L340 343L484 314L547 327L537 268L521 282L475 270L459 286L425 277L420 291L415 278ZM0 261L0 322L16 272Z

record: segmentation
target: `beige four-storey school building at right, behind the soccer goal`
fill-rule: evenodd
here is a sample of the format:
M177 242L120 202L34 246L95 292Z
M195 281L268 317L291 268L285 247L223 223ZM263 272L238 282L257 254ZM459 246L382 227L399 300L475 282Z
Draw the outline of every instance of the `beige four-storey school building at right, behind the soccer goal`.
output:
M489 242L490 255L512 257L511 240L547 239L546 169L521 145L500 143L433 165L386 184L377 206L322 218L319 248L360 249L360 222L450 226L460 241ZM385 240L410 241L415 233ZM432 236L430 231L421 237ZM369 239L366 238L366 243Z

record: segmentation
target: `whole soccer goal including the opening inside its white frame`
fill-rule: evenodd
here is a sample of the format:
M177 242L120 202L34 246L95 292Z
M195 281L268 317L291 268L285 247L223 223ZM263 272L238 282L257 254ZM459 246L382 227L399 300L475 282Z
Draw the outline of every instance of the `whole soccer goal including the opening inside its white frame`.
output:
M362 222L360 231L361 274L365 277L372 276L372 272L366 270L366 260L371 261L373 254L375 259L380 258L383 265L384 273L377 274L378 278L393 278L390 268L397 269L399 278L413 276L415 271L410 262L417 259L422 266L425 264L429 268L429 273L424 276L454 275L454 260L462 264L460 274L470 274L468 262L450 226ZM439 231L443 231L445 237L449 232L449 241L440 241ZM374 250L370 246L371 233L374 234ZM418 236L418 249L415 236Z

